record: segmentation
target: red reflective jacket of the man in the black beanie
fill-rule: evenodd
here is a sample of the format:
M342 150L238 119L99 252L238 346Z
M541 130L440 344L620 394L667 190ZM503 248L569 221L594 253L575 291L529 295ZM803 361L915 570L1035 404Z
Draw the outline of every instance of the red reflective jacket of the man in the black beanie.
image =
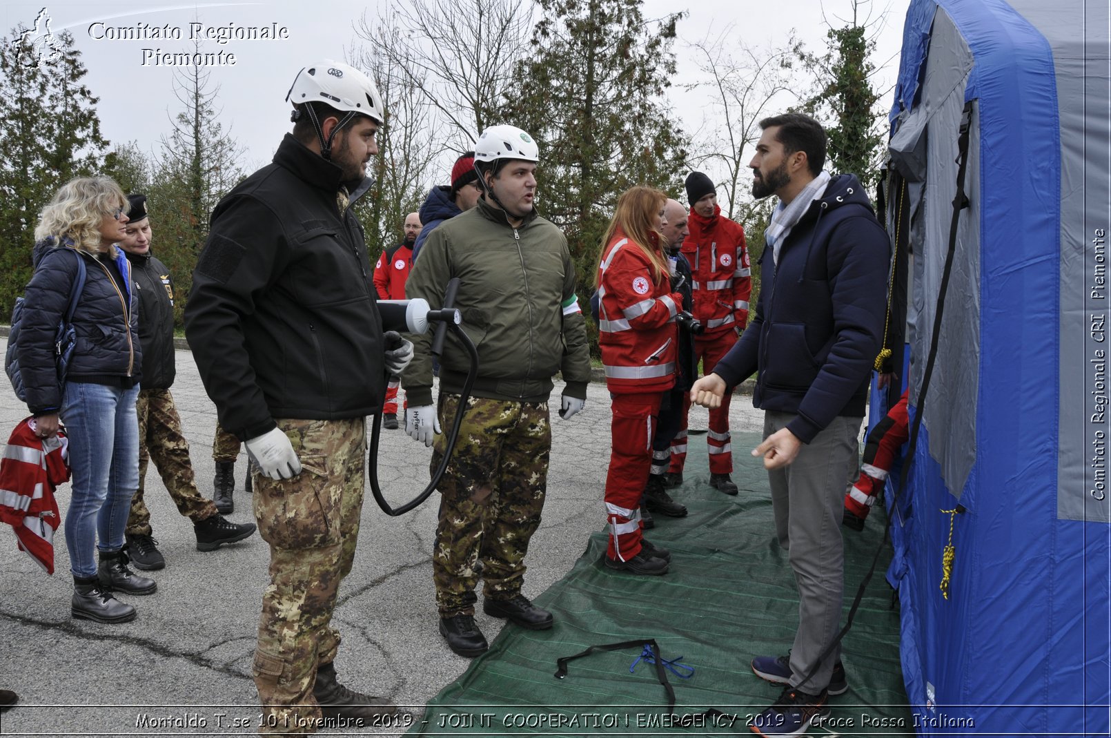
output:
M721 215L703 218L691 208L687 220L691 235L682 252L694 278L694 317L705 326L703 338L713 337L749 322L752 277L744 229Z

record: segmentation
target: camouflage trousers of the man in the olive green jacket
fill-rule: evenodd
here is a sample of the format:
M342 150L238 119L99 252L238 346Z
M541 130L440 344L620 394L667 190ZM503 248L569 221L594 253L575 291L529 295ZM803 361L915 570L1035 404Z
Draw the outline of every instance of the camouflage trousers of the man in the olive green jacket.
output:
M460 396L442 392L431 468L443 459ZM540 526L548 487L551 425L547 402L472 397L440 480L440 522L432 551L440 617L473 615L479 576L486 596L521 591L529 539Z

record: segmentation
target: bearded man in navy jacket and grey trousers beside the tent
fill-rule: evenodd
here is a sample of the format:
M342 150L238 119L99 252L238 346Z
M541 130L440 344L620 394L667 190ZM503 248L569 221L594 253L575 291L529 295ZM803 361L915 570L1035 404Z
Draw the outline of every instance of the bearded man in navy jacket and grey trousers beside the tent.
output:
M691 399L720 407L758 372L752 402L764 410L764 440L752 455L768 469L775 536L799 590L799 629L788 655L752 660L757 676L787 685L752 729L795 736L828 711L829 695L849 689L840 644L831 648L844 578L841 496L857 469L883 336L891 242L857 177L822 170L818 121L788 113L760 128L752 195L779 197L764 233L760 301L752 326L694 382Z

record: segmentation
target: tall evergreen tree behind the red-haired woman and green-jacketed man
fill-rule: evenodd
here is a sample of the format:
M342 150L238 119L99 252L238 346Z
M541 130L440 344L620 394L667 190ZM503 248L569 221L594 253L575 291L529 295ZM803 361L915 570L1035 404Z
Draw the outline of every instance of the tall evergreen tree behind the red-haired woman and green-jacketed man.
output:
M634 184L680 190L685 140L662 96L682 13L650 23L641 0L538 6L542 20L504 122L540 146L539 209L567 235L585 305L618 196Z

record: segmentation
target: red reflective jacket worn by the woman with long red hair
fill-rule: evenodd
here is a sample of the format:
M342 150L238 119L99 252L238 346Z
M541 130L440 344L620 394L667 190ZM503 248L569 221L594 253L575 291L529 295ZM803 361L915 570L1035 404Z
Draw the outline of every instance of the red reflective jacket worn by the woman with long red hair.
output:
M598 271L599 343L611 392L662 392L675 383L682 296L667 277L654 280L648 257L619 229Z

